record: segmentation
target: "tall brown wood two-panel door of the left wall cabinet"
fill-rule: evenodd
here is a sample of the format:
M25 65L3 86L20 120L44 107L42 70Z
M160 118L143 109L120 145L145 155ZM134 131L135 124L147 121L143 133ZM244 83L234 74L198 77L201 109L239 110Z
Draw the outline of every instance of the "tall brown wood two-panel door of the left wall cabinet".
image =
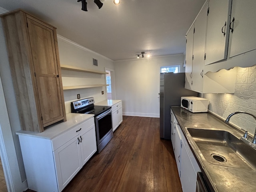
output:
M27 18L34 72L44 126L64 118L54 28Z

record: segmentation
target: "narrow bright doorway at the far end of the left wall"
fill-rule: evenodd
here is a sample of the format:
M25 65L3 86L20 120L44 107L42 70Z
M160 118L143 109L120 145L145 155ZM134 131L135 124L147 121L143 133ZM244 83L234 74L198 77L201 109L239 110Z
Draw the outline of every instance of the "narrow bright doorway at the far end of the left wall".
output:
M105 72L108 73L106 74L107 99L116 99L114 70L105 68Z

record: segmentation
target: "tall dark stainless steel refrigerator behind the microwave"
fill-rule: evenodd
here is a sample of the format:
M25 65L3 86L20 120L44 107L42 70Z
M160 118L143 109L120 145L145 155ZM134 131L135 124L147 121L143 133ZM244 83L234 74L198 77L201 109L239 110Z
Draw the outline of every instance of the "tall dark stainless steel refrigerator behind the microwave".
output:
M182 96L198 96L184 86L185 73L160 74L160 138L171 139L171 106L180 106Z

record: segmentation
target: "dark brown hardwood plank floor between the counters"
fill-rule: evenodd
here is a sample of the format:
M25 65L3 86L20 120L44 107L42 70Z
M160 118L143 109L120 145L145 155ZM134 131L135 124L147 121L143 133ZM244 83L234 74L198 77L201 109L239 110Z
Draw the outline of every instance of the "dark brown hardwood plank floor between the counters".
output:
M171 141L160 139L159 118L123 116L112 140L63 192L182 192Z

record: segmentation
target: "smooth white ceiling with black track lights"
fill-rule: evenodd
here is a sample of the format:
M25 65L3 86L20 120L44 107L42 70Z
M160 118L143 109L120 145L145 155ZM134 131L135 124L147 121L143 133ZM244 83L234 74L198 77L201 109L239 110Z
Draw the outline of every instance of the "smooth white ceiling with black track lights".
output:
M57 27L64 36L112 60L186 51L185 34L205 0L0 0L6 10L21 8Z

